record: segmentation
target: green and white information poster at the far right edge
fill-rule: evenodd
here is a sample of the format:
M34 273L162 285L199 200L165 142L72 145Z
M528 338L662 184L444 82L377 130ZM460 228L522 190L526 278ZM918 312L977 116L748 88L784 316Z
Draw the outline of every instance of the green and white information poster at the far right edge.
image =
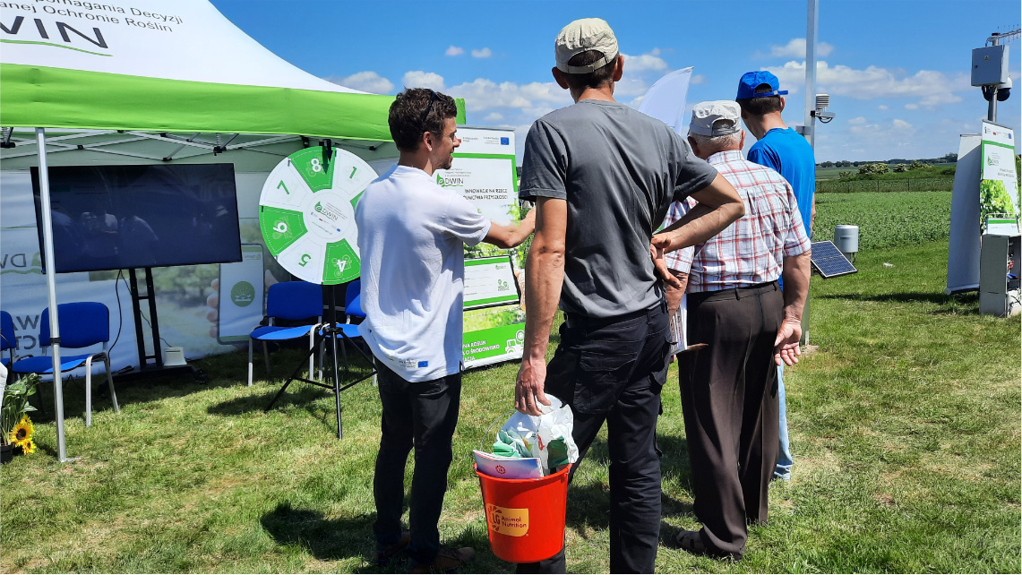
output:
M1022 209L1015 174L1015 134L1011 129L983 123L979 178L980 230L986 232L989 218L1017 219Z

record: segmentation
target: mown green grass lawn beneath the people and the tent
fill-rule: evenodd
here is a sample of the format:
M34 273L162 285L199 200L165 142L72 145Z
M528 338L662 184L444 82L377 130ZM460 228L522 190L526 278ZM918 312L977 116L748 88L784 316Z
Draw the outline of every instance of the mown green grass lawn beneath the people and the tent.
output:
M1019 319L943 295L945 261L943 242L865 250L857 275L814 279L819 350L785 377L792 480L772 486L771 520L751 529L742 561L661 546L657 571L1022 571ZM39 451L0 472L0 569L376 572L375 389L343 394L338 441L333 399L318 388L295 385L263 413L297 361L278 355L273 378L251 388L242 352L200 362L205 385L126 384L122 413L98 400L91 429L82 383L68 384L67 451L82 459L57 463L52 421L38 419ZM515 373L503 365L464 381L440 530L477 549L474 572L513 569L489 549L470 453L511 409ZM668 541L697 526L673 370L663 397ZM607 570L607 481L598 440L569 493L570 571Z

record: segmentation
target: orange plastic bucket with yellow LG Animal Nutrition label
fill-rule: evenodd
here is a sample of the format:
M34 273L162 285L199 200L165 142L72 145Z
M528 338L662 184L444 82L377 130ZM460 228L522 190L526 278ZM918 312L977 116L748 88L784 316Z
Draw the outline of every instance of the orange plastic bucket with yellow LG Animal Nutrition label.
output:
M533 563L561 550L570 469L568 464L546 477L502 479L475 468L494 555L511 563Z

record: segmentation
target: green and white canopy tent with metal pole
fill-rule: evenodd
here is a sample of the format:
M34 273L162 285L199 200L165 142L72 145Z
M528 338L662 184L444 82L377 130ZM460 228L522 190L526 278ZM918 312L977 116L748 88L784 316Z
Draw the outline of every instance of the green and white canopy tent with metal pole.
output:
M4 172L229 161L239 172L268 173L320 138L370 162L397 156L386 122L392 96L289 64L205 0L5 2L0 43ZM40 247L53 261L45 177L41 196ZM58 337L53 274L46 283ZM65 461L59 344L52 354L58 457Z

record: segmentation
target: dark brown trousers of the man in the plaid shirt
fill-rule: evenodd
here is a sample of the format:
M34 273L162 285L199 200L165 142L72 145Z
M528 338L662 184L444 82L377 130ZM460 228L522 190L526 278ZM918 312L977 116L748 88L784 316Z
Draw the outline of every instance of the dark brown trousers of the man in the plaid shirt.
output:
M689 342L680 355L693 505L706 546L741 557L747 523L766 521L778 451L774 340L784 315L776 282L688 297Z

